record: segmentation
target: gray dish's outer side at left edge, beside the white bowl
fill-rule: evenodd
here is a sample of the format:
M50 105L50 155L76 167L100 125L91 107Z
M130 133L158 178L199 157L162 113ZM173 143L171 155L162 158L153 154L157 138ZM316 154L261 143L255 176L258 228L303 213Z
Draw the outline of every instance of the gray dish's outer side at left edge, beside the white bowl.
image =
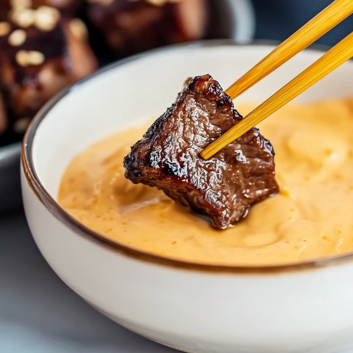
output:
M0 147L0 213L22 204L20 154L20 142Z

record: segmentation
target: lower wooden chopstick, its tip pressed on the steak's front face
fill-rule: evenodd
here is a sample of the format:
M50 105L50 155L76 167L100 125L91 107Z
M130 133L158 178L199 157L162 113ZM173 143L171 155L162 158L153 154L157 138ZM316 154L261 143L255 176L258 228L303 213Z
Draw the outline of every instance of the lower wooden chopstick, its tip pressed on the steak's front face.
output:
M256 126L260 121L274 113L277 109L283 107L307 88L321 80L335 68L343 64L343 62L352 58L352 56L353 32L301 72L291 82L283 86L273 96L246 115L244 119L240 120L227 132L208 145L201 152L201 156L204 159L210 158L223 147L227 146L245 132L249 131L252 127Z

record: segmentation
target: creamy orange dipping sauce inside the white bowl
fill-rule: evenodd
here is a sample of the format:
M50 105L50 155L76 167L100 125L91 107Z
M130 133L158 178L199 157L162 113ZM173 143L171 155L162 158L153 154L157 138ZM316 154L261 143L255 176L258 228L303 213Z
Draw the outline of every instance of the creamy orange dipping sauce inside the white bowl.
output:
M213 229L163 192L124 178L122 160L147 125L74 158L59 203L107 238L192 262L269 265L353 251L353 100L289 105L259 127L274 146L281 193L233 228Z

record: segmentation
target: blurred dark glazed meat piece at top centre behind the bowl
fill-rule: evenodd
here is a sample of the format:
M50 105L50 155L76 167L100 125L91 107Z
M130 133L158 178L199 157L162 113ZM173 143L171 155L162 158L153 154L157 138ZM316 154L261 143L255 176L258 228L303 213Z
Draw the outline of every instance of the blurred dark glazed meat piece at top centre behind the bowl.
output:
M119 57L201 39L206 0L87 0L90 22Z

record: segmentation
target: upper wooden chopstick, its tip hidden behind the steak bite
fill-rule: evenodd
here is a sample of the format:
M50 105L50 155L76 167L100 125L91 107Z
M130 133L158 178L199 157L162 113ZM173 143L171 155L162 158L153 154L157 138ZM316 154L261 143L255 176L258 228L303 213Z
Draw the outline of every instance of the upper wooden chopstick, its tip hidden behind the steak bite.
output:
M308 0L309 1L309 0ZM244 76L233 83L226 93L232 99L305 49L353 12L352 0L335 0L292 34Z

